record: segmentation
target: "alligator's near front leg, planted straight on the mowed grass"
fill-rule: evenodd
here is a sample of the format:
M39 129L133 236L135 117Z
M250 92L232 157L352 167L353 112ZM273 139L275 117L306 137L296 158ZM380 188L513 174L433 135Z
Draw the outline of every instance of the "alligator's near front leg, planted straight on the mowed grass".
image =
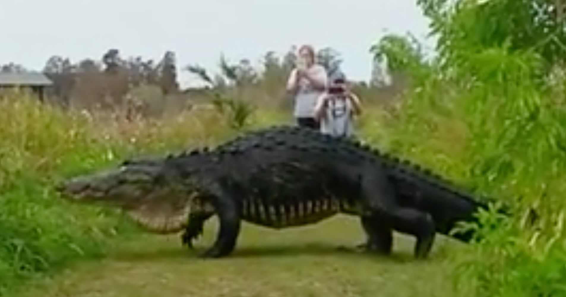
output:
M211 186L211 202L218 215L220 226L215 243L200 257L217 258L228 255L235 247L240 230L240 215L235 197L220 186Z

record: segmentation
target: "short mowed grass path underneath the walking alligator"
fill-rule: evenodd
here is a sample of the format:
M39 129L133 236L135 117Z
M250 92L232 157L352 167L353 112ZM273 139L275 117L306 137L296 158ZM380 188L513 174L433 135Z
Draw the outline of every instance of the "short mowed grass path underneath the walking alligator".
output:
M244 223L234 253L199 259L216 236L205 226L195 250L179 236L143 234L102 261L77 262L52 279L32 282L32 296L454 296L449 253L461 244L443 236L428 260L412 257L414 239L396 233L391 257L354 252L363 240L355 217L271 230ZM14 295L14 296L16 296Z

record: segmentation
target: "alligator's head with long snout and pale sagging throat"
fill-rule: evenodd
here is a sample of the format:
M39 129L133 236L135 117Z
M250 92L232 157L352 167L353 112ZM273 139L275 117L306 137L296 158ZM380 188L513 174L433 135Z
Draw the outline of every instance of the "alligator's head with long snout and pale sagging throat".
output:
M125 210L154 233L181 230L197 195L166 160L126 161L117 168L80 175L56 186L67 200Z

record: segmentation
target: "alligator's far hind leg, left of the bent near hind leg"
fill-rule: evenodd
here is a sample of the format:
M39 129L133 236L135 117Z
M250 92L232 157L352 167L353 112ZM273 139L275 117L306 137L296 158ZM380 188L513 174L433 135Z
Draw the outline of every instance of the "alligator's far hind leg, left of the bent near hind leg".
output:
M358 248L389 255L393 246L393 230L387 221L380 216L362 216L360 220L367 234L367 242Z

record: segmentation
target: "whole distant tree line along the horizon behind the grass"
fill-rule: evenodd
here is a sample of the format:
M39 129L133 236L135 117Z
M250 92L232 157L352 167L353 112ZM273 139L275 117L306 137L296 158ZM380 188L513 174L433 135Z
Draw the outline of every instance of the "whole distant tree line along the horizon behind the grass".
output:
M233 63L221 57L218 63L220 71L217 74L210 74L199 64L190 64L181 70L190 72L207 84L205 89L218 91L258 87L261 93L278 96L284 90L285 80L294 67L297 58L295 53L296 49L290 48L282 57L277 57L274 51L268 51L262 57L259 67L254 67L249 59ZM342 59L337 50L321 48L317 54L319 63L329 73L340 70ZM16 63L0 64L0 72L27 71L29 70ZM66 106L78 104L81 107L112 109L127 105L132 94L140 93L132 90L148 87L153 90L149 92L151 94L156 94L159 90L159 97L194 93L192 89L183 90L179 87L177 59L173 51L166 51L159 61L140 56L124 58L115 48L107 50L99 59L85 58L76 62L61 55L53 55L46 61L41 72L54 83L50 97ZM383 71L376 73L383 75ZM374 78L371 81L378 85L383 79Z

